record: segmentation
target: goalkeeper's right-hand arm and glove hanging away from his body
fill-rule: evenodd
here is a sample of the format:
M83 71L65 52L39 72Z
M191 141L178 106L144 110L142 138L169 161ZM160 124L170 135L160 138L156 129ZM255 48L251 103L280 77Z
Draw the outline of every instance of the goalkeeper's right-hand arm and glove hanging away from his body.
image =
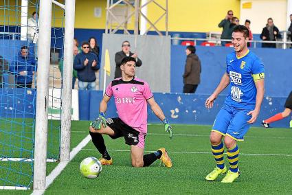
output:
M154 98L150 98L147 100L148 104L150 105L151 110L155 115L164 123L164 130L169 133L170 139L172 139L172 126L166 119L164 112L161 110L160 106L155 102Z

